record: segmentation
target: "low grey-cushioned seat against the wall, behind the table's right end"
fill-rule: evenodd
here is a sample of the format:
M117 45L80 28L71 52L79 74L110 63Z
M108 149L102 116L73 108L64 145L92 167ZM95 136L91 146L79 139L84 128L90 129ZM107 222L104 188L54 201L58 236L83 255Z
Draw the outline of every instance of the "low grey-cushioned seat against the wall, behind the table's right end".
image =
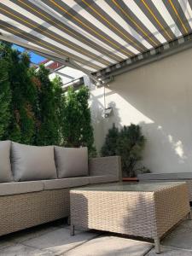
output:
M189 192L189 201L192 201L192 172L174 172L174 173L145 173L137 175L139 182L155 183L155 182L170 182L183 181L187 183Z

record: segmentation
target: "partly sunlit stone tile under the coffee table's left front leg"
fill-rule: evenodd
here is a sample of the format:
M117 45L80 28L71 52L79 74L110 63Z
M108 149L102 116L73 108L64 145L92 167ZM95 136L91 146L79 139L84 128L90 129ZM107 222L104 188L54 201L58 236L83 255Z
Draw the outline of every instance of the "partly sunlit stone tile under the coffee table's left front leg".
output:
M42 236L24 241L23 244L30 247L35 247L42 250L47 250L52 253L60 254L71 250L98 236L99 233L80 232L76 231L75 236L70 236L70 230L59 229L46 233Z

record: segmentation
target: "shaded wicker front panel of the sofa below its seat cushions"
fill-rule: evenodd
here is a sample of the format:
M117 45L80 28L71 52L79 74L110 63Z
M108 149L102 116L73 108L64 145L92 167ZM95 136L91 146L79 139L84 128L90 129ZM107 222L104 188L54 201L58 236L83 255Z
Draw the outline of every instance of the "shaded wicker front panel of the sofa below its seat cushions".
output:
M69 215L69 189L0 196L0 236Z

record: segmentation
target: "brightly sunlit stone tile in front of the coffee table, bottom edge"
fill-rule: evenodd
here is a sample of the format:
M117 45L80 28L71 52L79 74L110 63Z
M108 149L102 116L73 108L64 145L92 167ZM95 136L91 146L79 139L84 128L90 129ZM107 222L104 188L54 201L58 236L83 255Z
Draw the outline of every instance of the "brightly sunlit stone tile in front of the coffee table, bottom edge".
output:
M153 245L118 236L98 236L65 253L65 256L143 256Z

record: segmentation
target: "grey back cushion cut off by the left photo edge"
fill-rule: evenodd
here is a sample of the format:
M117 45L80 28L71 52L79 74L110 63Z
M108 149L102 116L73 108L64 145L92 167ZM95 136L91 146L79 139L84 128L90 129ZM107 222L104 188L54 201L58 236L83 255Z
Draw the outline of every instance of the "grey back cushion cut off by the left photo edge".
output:
M10 141L0 142L0 183L13 181L10 165Z

